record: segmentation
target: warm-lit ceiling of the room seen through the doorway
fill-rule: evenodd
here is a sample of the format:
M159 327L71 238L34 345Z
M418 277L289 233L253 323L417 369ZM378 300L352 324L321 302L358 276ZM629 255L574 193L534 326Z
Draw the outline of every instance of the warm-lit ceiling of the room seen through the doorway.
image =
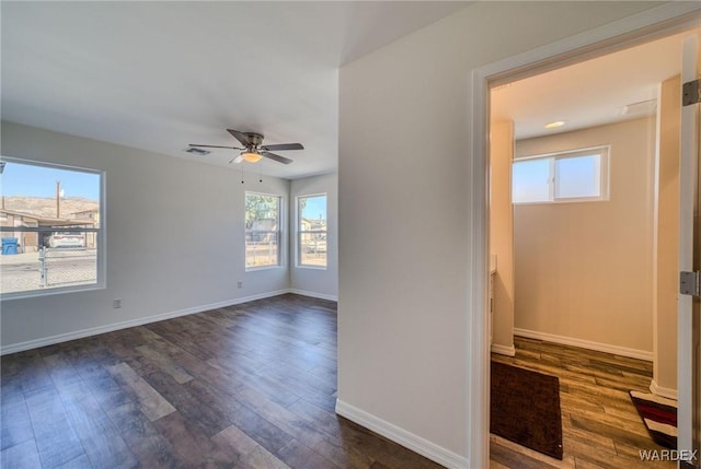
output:
M688 35L681 33L497 86L492 91L493 117L513 120L517 139L642 117L645 114L623 114L623 109L656 99L659 83L680 72L681 42ZM556 120L565 125L544 129L545 124Z

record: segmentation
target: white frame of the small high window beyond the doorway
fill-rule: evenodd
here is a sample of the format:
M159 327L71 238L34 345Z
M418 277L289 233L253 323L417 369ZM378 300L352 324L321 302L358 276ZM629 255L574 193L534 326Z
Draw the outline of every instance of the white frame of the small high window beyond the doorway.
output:
M599 156L599 195L591 197L556 197L558 190L558 161L570 160L583 156ZM514 199L514 166L517 163L528 161L549 161L549 199L548 200L532 200L532 201L517 201ZM610 162L611 162L611 145L597 145L573 150L564 150L553 153L543 153L537 155L529 155L514 159L512 162L512 203L518 206L528 204L542 204L542 203L576 203L576 202L604 202L610 200Z

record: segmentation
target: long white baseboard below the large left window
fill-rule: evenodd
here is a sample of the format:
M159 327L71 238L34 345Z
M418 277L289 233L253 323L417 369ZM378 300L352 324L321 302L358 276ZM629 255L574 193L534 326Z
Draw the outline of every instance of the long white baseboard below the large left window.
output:
M110 324L106 326L92 327L89 329L81 329L73 332L59 333L57 336L43 337L41 339L27 340L26 342L11 343L9 345L0 347L0 355L8 353L23 352L25 350L38 349L39 347L53 345L55 343L68 342L69 340L82 339L84 337L97 336L100 333L113 332L119 329L126 329L129 327L143 326L145 324L158 323L160 320L172 319L180 316L187 316L191 314L203 313L209 309L217 309L227 306L238 305L241 303L248 303L255 300L268 298L272 296L290 293L288 289L277 290L274 292L265 292L251 296L243 296L241 298L226 300L223 302L211 303L208 305L195 306L192 308L179 309L170 313L162 313L153 316L140 317L137 319L126 320L122 323Z

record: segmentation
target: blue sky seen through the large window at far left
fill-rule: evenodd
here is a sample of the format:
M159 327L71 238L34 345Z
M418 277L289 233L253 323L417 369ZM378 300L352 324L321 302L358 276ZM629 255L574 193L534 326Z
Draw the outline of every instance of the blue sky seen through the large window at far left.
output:
M61 181L64 197L100 200L100 175L7 162L0 176L3 196L56 197L56 181Z

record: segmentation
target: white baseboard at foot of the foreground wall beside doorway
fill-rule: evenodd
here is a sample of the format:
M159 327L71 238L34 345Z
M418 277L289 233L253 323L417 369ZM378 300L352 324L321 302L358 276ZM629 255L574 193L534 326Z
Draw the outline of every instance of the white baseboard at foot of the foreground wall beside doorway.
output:
M337 399L336 413L448 469L464 469L469 467L466 457Z

